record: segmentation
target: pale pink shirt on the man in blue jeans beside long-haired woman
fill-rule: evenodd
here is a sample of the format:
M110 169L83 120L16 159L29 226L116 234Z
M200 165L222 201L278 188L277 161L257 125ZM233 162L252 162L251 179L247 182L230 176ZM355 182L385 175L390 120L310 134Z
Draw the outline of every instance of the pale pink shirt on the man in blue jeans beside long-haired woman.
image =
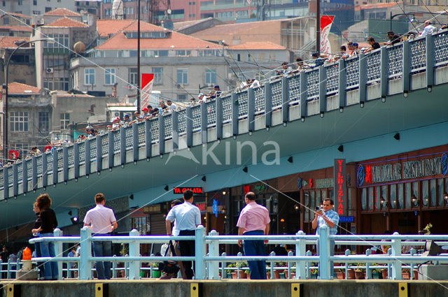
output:
M105 208L104 205L97 204L89 210L84 217L84 224L92 225L92 233L106 234L112 231L112 223L117 222L113 210Z

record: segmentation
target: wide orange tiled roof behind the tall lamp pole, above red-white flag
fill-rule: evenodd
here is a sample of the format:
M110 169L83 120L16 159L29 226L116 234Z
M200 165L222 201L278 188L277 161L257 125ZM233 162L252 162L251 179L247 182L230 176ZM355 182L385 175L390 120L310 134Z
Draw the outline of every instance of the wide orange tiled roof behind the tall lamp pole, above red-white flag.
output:
M141 38L140 47L145 49L219 49L219 45L209 41L203 41L199 38L166 30L162 27L147 22L141 22L140 30L144 31L167 31L170 34L166 38ZM137 38L127 38L124 32L137 31L137 21L123 28L115 36L109 38L102 45L97 46L96 50L134 50L137 49Z

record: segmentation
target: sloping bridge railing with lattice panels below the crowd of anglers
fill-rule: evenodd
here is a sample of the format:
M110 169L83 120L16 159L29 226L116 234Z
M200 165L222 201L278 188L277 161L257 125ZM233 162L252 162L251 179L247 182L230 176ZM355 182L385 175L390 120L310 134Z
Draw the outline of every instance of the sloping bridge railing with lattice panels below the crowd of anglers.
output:
M244 89L223 95L220 98L200 103L200 105L174 111L144 122L138 122L117 131L111 131L83 142L59 147L5 166L0 169L0 191L3 198L26 194L38 187L66 182L69 170L74 170L74 178L80 175L79 166L85 165L85 175L93 173L96 162L97 172L104 167L127 163L126 152L133 150L132 161L149 159L179 148L179 137L186 135L188 147L193 146L193 133L202 133L202 143L207 143L207 130L216 127L216 138L223 138L223 126L232 125L232 133L239 133L241 119L247 120L248 131L255 130L254 119L264 115L265 126L272 126L272 111L281 110L282 122L290 120L290 107L300 106L300 118L330 111L327 97L338 96L337 108L342 110L347 103L346 94L359 89L358 102L363 106L367 100L367 85L381 86L381 99L388 96L388 82L402 79L402 92L410 91L412 75L426 72L428 90L435 85L435 68L448 65L448 31L404 41L360 54L346 60L339 60L283 78L272 78L260 87ZM318 102L317 110L308 110L308 102ZM350 104L353 104L351 102ZM242 124L243 122L241 122ZM165 143L172 141L172 149ZM157 145L153 152L152 145ZM139 147L146 147L141 155ZM120 162L113 161L120 154ZM109 157L109 166L102 159ZM61 174L62 173L62 174ZM59 175L62 175L59 177ZM7 187L4 185L7 184ZM19 187L19 185L21 187ZM1 196L0 194L0 196Z

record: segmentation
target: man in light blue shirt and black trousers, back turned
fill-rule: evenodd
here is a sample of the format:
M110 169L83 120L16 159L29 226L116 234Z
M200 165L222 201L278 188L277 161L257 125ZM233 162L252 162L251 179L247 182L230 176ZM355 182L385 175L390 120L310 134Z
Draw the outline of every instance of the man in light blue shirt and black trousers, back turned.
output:
M183 203L174 206L169 210L166 219L167 235L173 236L171 223L176 221L176 229L179 230L179 236L194 236L195 229L201 224L201 211L193 205L193 191L183 192ZM195 240L179 240L179 249L181 256L195 256ZM191 261L183 261L186 280L193 279L193 269Z

